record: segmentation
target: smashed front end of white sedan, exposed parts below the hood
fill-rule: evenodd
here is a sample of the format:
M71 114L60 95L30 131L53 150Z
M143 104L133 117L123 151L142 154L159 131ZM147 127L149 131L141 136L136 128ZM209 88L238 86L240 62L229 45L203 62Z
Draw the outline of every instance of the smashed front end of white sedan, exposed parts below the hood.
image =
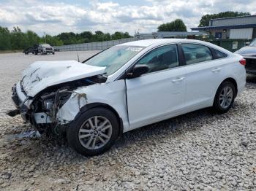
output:
M72 82L64 82L59 85L47 87L34 97L27 95L26 91L23 90L23 85L18 82L17 85L12 87L12 101L17 109L8 114L12 117L20 114L25 122L30 122L39 132L50 128L54 133L59 134L59 129L61 131L64 130L64 128L60 127L72 121L64 120L67 117L62 117L59 113L59 110L69 98L74 100L75 97L77 100L76 103L72 104L74 109L77 107L79 110L80 106L86 104L86 95L84 93L77 93L76 89L78 87L104 83L105 80L105 77L99 75L77 79Z

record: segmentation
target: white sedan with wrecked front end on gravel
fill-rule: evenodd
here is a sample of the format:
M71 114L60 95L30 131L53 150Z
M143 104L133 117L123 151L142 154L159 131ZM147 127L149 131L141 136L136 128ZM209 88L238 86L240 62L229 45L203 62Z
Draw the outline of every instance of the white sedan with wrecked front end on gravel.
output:
M118 44L83 63L32 63L12 87L17 109L9 114L98 155L129 130L210 106L227 112L244 90L244 65L240 55L196 40Z

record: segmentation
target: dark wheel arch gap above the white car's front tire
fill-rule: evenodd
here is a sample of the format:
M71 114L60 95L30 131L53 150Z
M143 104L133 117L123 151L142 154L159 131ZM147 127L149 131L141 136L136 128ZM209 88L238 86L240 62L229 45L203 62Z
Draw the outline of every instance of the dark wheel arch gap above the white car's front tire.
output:
M80 109L80 112L78 112L78 114L75 116L76 120L80 114L82 114L83 112L88 111L89 109L93 109L96 107L103 107L105 109L109 109L111 112L113 112L113 114L116 115L116 118L118 120L118 124L119 124L119 130L118 130L118 136L121 136L121 134L124 132L124 124L123 124L123 120L122 118L119 116L118 112L116 112L116 109L114 109L112 106L108 105L108 104L104 104L104 103L91 103L91 104L86 104L85 106L83 106Z

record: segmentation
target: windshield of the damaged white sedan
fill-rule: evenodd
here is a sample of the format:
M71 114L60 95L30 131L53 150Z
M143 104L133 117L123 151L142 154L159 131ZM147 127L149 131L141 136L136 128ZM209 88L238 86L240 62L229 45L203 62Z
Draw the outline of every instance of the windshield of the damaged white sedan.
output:
M118 71L127 61L132 59L144 47L135 46L115 46L100 52L85 63L91 66L106 67L106 74L110 75Z

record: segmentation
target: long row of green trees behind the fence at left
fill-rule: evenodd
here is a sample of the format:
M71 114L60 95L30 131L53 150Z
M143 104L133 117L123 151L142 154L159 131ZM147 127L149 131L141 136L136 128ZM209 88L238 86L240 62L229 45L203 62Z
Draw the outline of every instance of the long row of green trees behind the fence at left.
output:
M116 31L114 34L103 33L102 31L83 31L80 34L73 32L61 33L56 36L38 36L34 31L23 32L19 27L14 27L12 31L0 26L0 50L23 50L34 44L48 43L52 46L61 46L67 44L79 44L86 42L102 42L108 40L125 39L132 37L128 32L122 33Z

